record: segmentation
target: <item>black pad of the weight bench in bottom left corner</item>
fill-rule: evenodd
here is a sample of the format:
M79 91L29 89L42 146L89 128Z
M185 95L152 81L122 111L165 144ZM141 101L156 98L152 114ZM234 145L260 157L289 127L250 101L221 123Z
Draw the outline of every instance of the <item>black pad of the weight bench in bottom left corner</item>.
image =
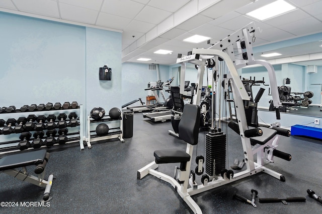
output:
M10 154L0 159L0 171L29 165L38 165L44 161L46 152L46 149L41 149L31 152Z

